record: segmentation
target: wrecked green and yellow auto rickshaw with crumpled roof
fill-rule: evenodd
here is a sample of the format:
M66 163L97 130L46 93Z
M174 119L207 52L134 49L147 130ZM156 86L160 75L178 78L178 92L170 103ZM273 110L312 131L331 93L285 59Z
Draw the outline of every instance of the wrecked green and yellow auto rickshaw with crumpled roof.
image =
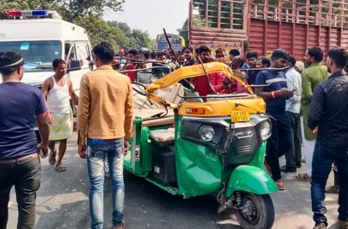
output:
M177 84L219 71L246 93L202 97ZM209 62L181 67L147 86L133 84L134 135L124 167L173 195L216 194L218 211L235 210L242 228L271 228L269 194L278 188L262 170L271 121L264 101L237 74Z

